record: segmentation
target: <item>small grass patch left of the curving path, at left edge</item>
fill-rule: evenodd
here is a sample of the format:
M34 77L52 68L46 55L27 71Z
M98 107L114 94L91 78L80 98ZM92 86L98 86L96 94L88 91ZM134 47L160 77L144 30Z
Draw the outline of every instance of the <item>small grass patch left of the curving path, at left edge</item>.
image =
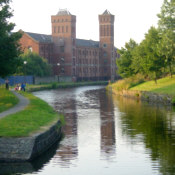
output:
M18 98L4 87L0 87L0 112L3 112L19 102Z

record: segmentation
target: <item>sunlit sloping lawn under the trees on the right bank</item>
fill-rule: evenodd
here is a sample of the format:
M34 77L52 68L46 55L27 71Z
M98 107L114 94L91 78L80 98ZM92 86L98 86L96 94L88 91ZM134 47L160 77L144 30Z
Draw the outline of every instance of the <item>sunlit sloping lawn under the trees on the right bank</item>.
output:
M129 90L150 91L175 96L175 76L159 79L157 84L154 81L144 82Z

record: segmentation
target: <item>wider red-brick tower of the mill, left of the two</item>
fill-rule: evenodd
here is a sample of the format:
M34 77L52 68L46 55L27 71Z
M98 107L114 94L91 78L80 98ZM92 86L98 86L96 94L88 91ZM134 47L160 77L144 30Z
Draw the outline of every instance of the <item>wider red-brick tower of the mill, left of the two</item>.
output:
M52 41L54 43L54 72L60 77L72 79L75 76L76 16L66 9L51 16ZM66 76L65 76L66 75Z

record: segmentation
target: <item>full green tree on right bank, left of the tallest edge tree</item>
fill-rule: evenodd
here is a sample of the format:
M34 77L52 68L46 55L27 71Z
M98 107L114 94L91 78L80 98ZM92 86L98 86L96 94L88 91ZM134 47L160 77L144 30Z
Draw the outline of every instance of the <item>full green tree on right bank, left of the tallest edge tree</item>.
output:
M138 62L142 73L154 79L156 83L164 65L164 60L159 56L158 50L160 39L159 30L151 27L145 35L145 40L138 47L133 61L135 65Z

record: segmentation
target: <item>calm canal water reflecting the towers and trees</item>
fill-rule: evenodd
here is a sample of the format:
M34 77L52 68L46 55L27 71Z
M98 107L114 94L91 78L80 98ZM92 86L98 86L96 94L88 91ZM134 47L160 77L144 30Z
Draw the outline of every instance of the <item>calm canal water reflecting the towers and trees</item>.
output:
M175 174L175 108L117 97L102 86L35 92L65 114L63 139L0 174Z

